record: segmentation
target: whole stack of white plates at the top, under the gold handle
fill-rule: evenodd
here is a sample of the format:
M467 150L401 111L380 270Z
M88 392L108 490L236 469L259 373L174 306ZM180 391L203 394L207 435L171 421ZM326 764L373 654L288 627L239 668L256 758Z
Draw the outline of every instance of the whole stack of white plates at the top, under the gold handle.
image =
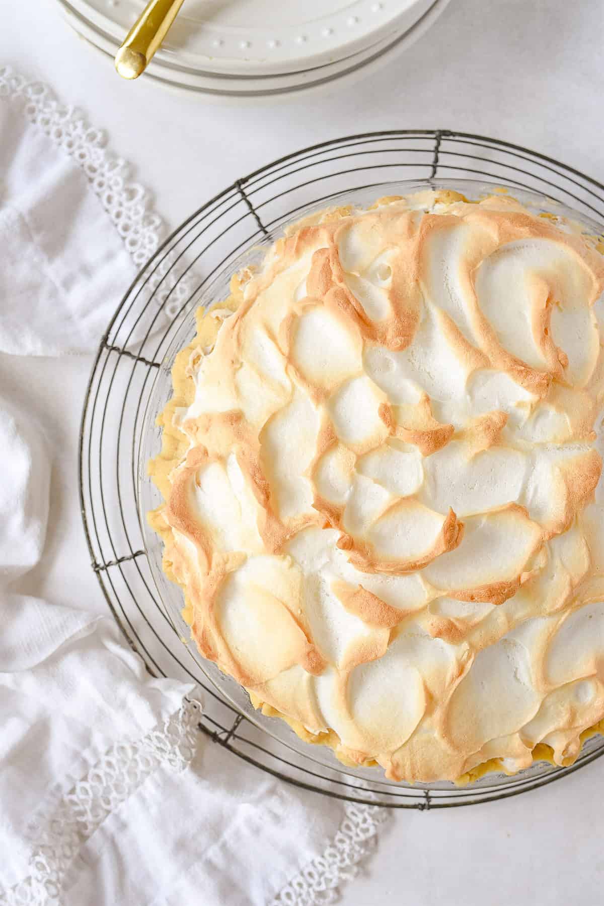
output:
M113 55L144 0L59 0ZM448 0L185 0L147 75L222 98L316 91L423 34Z

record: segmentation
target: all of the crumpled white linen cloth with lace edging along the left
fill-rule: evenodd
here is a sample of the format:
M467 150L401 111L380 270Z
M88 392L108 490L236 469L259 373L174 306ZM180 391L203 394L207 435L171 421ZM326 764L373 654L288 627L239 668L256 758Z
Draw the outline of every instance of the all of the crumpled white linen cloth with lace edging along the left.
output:
M2 69L0 136L0 351L91 350L159 218L81 114ZM61 453L0 388L0 904L333 901L382 810L204 742L197 690L151 678L109 616L15 591L57 531Z

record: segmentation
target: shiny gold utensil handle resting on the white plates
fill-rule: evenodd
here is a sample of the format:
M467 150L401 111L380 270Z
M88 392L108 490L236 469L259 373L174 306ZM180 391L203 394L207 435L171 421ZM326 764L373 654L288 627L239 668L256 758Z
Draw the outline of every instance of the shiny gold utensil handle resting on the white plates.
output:
M126 40L115 54L115 68L123 79L138 79L168 34L184 0L149 0Z

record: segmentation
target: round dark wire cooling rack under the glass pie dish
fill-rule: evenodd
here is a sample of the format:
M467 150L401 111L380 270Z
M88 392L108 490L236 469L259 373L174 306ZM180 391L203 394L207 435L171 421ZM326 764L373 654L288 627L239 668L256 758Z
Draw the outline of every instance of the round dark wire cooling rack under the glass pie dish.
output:
M604 754L593 737L568 768L532 766L475 784L405 786L379 770L354 771L312 757L280 732L265 732L187 657L153 581L139 516L141 425L151 388L178 327L218 273L283 219L329 204L343 191L398 180L484 181L528 189L604 220L604 186L576 169L505 141L451 130L392 130L324 142L237 179L189 217L158 249L121 301L94 362L81 420L84 531L110 610L155 676L195 681L204 691L199 730L264 771L307 789L372 805L446 808L517 795L570 774ZM381 190L381 191L380 191ZM272 718L267 718L272 719ZM297 737L296 741L297 741ZM368 779L368 774L370 779Z

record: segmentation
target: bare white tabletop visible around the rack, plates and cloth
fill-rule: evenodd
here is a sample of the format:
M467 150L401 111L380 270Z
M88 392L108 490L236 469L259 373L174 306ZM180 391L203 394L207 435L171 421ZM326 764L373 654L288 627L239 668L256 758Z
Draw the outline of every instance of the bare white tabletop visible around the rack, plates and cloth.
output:
M382 72L329 95L261 107L208 104L150 80L121 82L107 58L72 34L53 0L13 3L10 14L8 7L0 64L48 82L62 101L80 105L107 130L112 149L155 192L168 226L256 167L356 131L481 132L604 181L602 0L451 0L433 29ZM90 369L85 356L34 362L0 356L0 386L40 417L54 450L53 527L42 563L20 590L104 612L76 481ZM596 762L507 801L393 813L377 853L345 888L342 903L599 903L603 780L604 764Z

